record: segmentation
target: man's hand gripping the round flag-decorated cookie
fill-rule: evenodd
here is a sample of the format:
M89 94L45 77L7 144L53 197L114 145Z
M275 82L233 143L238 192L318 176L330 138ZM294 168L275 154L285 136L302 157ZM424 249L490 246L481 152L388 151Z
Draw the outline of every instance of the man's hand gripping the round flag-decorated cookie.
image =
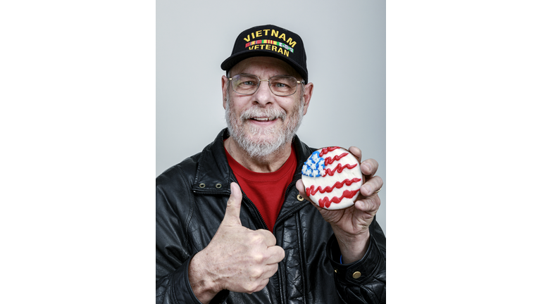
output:
M361 163L361 150L355 146L349 147L351 152ZM326 210L320 208L306 195L302 179L297 181L297 190L302 197L309 200L312 205L318 208L319 212L327 222L330 223L332 231L340 246L342 261L344 263L354 262L363 258L368 249L368 240L370 226L374 215L380 208L380 197L375 191L383 186L383 179L374 176L378 170L378 162L373 159L364 160L361 163L361 172L363 174L363 185L359 198L354 205L342 210Z

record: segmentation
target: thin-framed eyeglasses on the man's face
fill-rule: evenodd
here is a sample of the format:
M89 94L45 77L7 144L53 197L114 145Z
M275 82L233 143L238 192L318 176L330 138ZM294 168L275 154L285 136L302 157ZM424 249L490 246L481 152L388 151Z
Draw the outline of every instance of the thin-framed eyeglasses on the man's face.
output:
M277 96L290 96L297 91L297 84L304 84L297 78L287 75L278 75L270 77L268 80L260 80L256 75L239 74L228 78L231 82L233 91L241 95L254 94L259 89L262 81L268 82L268 87L273 94Z

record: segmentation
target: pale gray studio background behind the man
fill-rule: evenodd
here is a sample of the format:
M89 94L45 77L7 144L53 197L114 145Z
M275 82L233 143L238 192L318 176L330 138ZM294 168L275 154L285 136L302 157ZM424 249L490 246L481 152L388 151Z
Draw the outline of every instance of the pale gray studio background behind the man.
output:
M242 30L266 24L296 32L306 48L314 89L300 139L358 146L385 182L385 1L156 1L156 176L225 127L220 63Z

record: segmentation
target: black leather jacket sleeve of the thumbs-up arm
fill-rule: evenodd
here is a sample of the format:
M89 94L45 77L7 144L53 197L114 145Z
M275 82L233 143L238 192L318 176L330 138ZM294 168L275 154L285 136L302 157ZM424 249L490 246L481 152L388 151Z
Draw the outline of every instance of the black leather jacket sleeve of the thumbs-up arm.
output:
M195 254L187 235L193 197L185 180L168 179L156 179L156 304L201 303L188 278ZM221 291L211 303L222 303L228 294Z

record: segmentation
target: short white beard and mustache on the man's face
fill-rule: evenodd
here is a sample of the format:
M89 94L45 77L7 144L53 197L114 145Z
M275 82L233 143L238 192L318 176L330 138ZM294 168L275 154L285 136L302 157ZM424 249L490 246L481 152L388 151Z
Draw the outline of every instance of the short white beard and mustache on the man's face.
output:
M268 117L285 121L287 115L285 110L278 108L260 108L252 106L238 117L230 109L229 96L225 106L225 122L228 124L229 134L241 148L251 157L268 156L291 141L301 126L304 104L301 100L297 101L298 106L292 113L290 120L285 127L275 125L270 128L262 128L247 123L251 117Z

